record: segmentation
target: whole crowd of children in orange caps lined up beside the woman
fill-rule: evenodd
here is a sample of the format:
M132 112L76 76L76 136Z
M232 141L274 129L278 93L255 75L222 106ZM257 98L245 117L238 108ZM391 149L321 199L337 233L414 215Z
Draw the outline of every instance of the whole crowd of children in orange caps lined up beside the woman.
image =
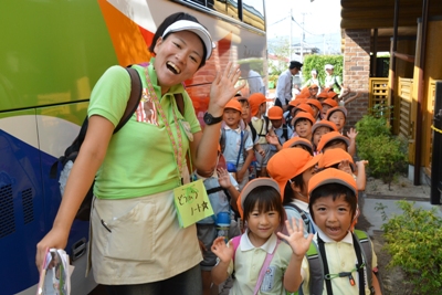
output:
M225 106L218 168L194 173L214 211L197 223L203 294L230 275L230 294L381 294L371 242L355 230L367 162L354 162L357 133L343 135L337 95L314 86L285 114L267 112L261 93ZM222 212L232 217L230 241L217 231Z

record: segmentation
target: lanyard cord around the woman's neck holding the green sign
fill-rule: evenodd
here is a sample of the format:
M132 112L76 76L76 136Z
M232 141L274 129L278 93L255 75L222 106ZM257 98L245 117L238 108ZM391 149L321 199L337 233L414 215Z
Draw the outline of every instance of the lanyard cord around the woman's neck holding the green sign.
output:
M146 76L146 82L147 82L147 91L150 95L150 98L155 103L155 106L156 106L159 115L161 116L162 123L166 126L166 130L167 130L170 141L172 144L173 157L175 157L175 160L177 161L177 172L178 172L178 178L180 179L180 186L181 186L182 181L183 181L182 180L182 135L181 135L181 129L180 129L180 126L178 123L177 114L175 114L175 110L172 110L175 127L177 128L178 143L173 137L172 129L170 128L169 122L167 120L165 110L162 109L161 104L159 103L157 93L154 89L147 66L145 67L145 76Z

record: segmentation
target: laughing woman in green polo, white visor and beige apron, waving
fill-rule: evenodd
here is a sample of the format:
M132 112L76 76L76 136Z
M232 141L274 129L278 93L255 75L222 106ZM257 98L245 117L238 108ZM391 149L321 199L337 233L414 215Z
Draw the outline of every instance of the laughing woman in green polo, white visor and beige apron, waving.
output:
M217 74L201 131L182 82L204 65L213 48L194 17L168 17L149 48L155 55L150 64L134 66L144 87L141 102L115 135L130 77L120 66L103 74L91 94L86 138L53 228L36 246L39 268L46 249L66 246L95 179L88 252L95 281L108 285L109 294L201 294L196 226L179 226L173 189L189 181L189 152L194 168L213 170L224 105L243 87L235 86L239 66L229 63ZM182 110L176 94L182 95Z

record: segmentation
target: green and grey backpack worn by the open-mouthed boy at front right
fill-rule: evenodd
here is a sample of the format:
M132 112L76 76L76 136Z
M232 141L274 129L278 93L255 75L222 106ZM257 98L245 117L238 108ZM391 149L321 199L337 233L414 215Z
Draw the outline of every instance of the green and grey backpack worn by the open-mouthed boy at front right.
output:
M358 255L360 255L364 262L368 262L368 265L365 266L364 268L361 268L360 275L364 277L364 282L366 282L365 280L368 281L367 285L369 286L371 294L375 294L375 291L372 287L373 273L372 273L372 265L371 265L371 261L372 261L371 240L368 236L367 232L360 231L360 230L355 230L355 232L351 235L352 235L352 240L354 240L354 247L356 251L356 256L358 257ZM308 260L309 272L311 272L311 274L309 274L309 276L311 276L311 282L309 282L311 283L309 284L311 294L312 295L323 294L325 264L323 262L323 253L318 249L318 244L316 244L315 242L312 242L312 244L306 253L306 257ZM358 261L359 261L359 259L358 259ZM327 266L327 268L328 268L328 266ZM359 278L361 276L359 276ZM328 280L328 282L329 282L329 280ZM379 284L380 284L380 282L379 282ZM330 284L330 286L332 286L332 284ZM296 292L296 293L287 292L287 295L288 294L303 294L302 287L299 287L298 292ZM327 294L332 295L333 293L327 291Z

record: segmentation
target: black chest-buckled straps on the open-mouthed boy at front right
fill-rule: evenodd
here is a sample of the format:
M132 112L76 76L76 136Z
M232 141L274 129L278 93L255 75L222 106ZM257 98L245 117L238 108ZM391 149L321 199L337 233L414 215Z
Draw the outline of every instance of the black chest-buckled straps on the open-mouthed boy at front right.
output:
M358 260L356 267L354 270L351 270L350 272L341 272L338 274L330 274L329 270L328 270L327 255L325 253L324 241L323 241L323 239L320 239L319 235L317 235L319 253L320 253L320 256L323 257L322 260L323 260L323 265L324 265L324 273L325 273L324 278L325 278L325 285L327 288L327 295L333 295L333 289L332 289L332 280L333 278L348 276L348 280L350 281L350 285L354 286L355 280L354 280L351 273L355 271L358 272L358 276L359 276L359 295L365 294L364 267L366 266L366 264L362 261L360 245L359 245L358 241L356 241L355 234L351 234L351 238L352 238L352 244L354 244L355 252L356 252L356 257Z

